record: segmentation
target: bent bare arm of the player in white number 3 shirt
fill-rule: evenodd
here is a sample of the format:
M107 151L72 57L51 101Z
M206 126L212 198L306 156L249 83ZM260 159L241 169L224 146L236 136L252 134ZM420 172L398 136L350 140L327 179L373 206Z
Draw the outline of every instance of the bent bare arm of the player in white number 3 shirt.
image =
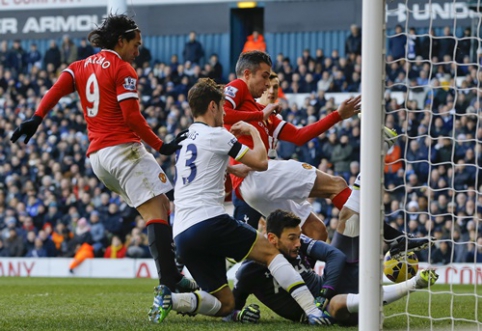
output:
M238 161L256 171L268 169L268 154L258 130L251 124L240 121L235 123L230 131L235 136L250 135L253 138L253 149L248 150Z

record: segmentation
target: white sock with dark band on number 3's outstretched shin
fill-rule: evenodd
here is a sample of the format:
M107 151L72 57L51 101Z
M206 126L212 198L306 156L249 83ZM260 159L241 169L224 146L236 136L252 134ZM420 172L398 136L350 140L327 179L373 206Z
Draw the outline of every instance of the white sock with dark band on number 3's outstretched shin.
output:
M321 311L314 304L315 298L305 285L303 278L282 254L276 255L268 265L268 269L278 284L298 302L306 315L321 316Z

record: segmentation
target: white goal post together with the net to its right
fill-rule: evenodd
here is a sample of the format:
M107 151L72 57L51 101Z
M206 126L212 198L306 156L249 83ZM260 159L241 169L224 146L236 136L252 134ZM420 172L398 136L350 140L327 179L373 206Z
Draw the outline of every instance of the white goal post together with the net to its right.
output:
M424 330L482 330L482 260L477 260L482 254L481 13L482 0L363 1L359 330L383 330L384 318L392 317L384 316L382 302L383 222L393 220L383 198L396 190L403 192L397 201L397 212L403 215L399 226L411 233L408 223L416 220L420 236L437 239L423 253L422 264L441 270L463 265L475 275L465 283L470 288L460 292L446 273L443 285L448 290L443 291L451 298L445 299L447 315L433 308L442 297L437 288L426 290L428 316L414 313L407 304L399 314L406 317L407 330L411 318L425 319ZM393 31L389 21L386 29L387 19L394 17L400 27ZM390 40L400 36L406 38L405 54L396 57ZM400 70L392 70L392 65ZM414 74L415 69L420 71ZM401 74L395 77L394 71ZM387 97L395 91L403 91L404 98L392 107ZM389 183L393 177L387 175L382 148L390 116L396 118L400 137L397 161L403 174L398 184ZM425 154L416 154L417 146ZM427 202L425 209L419 208L420 198ZM447 252L442 246L449 247L448 258L439 261L436 254ZM469 317L456 309L455 302L463 297L473 302L464 307Z

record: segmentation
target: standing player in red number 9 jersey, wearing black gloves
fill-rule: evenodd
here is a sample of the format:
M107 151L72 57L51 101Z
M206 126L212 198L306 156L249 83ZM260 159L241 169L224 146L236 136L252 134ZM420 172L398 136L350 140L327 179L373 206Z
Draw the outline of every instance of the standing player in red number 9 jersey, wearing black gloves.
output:
M11 140L25 135L28 143L43 118L61 97L77 91L90 140L87 156L96 176L121 195L147 222L149 248L156 261L160 284L178 291L196 289L176 268L172 229L168 223L172 189L166 174L141 140L170 155L185 139L179 134L164 143L147 124L139 108L137 74L131 63L139 55L141 31L126 15L109 15L89 36L102 50L72 63L42 98L34 116L14 131Z

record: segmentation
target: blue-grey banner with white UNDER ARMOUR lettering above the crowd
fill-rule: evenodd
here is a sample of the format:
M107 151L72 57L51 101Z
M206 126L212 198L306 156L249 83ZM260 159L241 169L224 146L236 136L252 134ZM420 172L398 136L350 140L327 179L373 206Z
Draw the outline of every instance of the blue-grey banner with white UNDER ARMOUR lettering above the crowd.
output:
M0 34L5 39L58 38L68 33L84 37L102 21L108 0L0 0ZM128 14L141 23L144 35L226 33L237 1L229 0L133 0ZM361 26L361 2L357 0L263 1L265 32L348 30ZM353 8L347 12L346 8ZM297 12L297 15L293 15ZM338 13L345 13L340 15ZM299 17L303 17L302 20ZM213 19L216 18L216 19ZM452 0L387 3L387 28L474 26L479 14L467 3ZM475 24L476 26L476 24Z

